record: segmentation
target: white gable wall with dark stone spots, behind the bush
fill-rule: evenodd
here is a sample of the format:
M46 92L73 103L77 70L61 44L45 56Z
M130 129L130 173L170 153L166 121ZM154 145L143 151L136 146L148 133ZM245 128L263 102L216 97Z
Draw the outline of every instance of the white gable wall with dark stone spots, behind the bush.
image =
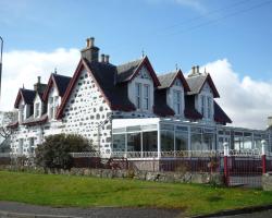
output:
M110 152L112 128L110 121L106 123L110 116L110 107L97 84L83 70L64 108L65 133L81 134L91 140L101 152Z

